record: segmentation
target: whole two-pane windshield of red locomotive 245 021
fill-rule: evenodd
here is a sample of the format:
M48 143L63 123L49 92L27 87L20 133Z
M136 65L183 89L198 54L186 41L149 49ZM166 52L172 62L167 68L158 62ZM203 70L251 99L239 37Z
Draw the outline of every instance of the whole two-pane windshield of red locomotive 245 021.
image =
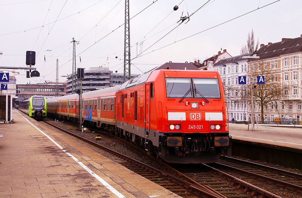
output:
M166 78L166 90L168 98L221 97L217 78Z

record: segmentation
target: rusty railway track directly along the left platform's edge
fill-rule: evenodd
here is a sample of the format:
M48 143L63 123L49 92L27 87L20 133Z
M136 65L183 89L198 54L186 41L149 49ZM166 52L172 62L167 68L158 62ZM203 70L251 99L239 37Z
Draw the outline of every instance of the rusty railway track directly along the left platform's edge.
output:
M62 129L47 121L43 120L43 122L63 131L64 133L67 133L70 138L80 142L84 146L87 146L93 151L98 152L101 155L111 159L112 161L115 161L125 166L133 172L145 177L146 179L153 181L154 183L159 184L160 186L163 186L164 188L170 190L171 192L174 192L177 195L180 195L181 197L225 198L223 195L215 192L211 188L202 186L198 183L194 184L194 182L190 183L184 179L181 179L178 176L148 166L142 162L132 159L131 157L127 157L121 153L108 149L105 146L102 146L81 136L73 134L68 130Z

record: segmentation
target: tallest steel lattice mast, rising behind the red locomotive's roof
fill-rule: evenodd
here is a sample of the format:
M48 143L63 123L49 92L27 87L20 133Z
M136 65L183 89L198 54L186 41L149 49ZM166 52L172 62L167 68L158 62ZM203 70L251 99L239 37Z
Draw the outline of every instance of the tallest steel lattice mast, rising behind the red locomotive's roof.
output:
M131 76L129 0L125 0L124 82Z

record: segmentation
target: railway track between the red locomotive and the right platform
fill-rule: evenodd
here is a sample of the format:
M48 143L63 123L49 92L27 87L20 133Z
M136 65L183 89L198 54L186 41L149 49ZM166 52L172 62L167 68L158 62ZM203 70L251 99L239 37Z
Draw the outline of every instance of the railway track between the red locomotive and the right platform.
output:
M229 168L262 181L267 181L272 184L286 187L290 190L302 192L302 175L298 173L231 157L220 158L216 165L223 169Z

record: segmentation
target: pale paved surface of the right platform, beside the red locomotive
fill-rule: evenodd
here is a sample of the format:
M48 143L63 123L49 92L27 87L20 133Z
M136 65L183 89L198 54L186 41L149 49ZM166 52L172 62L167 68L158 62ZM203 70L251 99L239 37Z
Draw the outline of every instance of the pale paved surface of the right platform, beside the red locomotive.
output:
M251 126L250 126L251 129ZM257 129L255 125L255 129ZM246 124L229 124L229 135L233 140L245 140L302 150L302 129L274 126L258 126L258 130L247 130Z

